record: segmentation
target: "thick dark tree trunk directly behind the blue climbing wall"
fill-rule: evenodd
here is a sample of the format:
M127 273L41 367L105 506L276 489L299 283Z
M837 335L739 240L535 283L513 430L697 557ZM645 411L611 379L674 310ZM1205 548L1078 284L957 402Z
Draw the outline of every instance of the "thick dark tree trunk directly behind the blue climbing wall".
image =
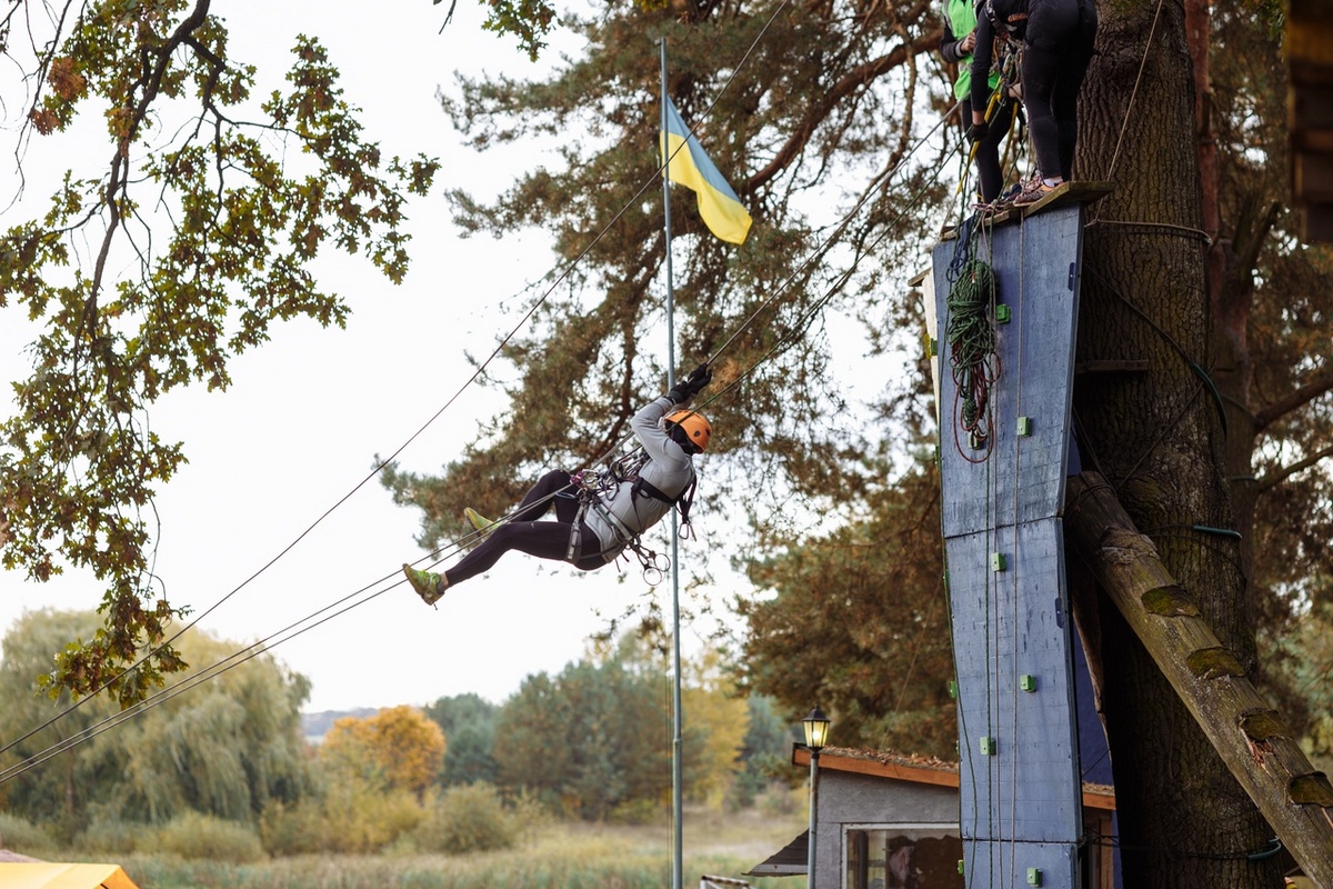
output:
M1076 177L1116 191L1086 232L1078 361L1146 372L1080 380L1085 468L1100 470L1168 570L1244 669L1254 640L1209 367L1208 239L1200 212L1194 91L1181 0L1100 4L1098 55L1080 100ZM1102 706L1126 886L1278 886L1273 836L1113 609L1101 613Z

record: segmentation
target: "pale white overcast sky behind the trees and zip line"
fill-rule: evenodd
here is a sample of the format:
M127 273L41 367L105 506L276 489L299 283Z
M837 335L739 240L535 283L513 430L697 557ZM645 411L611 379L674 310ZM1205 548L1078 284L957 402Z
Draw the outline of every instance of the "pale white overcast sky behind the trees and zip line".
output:
M533 65L512 39L483 31L480 5L469 0L460 0L443 33L448 4L427 0L375 7L215 3L213 9L232 28L232 57L252 61L269 79L260 92L287 71L299 32L317 36L343 72L345 99L363 109L367 132L385 153L425 152L444 164L432 195L409 205L413 264L401 287L364 259L328 255L317 273L335 281L352 307L345 331L287 323L272 343L233 361L227 392L173 393L151 412L153 428L184 441L189 458L157 497L156 573L169 600L195 614L221 601L199 628L240 646L393 577L401 562L425 554L415 542L417 510L395 506L377 480L356 488L376 454L397 450L463 387L472 373L464 352L489 355L515 312L533 299L519 296L524 287L552 263L540 232L500 243L465 240L455 231L444 188L495 195L529 169L535 155L529 145L484 155L464 148L435 93L456 89L455 71L528 77L551 63ZM577 49L571 37L564 40ZM655 52L647 39L645 51ZM11 136L12 144L12 133L7 120L0 136ZM0 157L8 199L17 172L12 151ZM45 145L29 151L27 197L0 223L40 212L32 208L51 189L37 173L60 161ZM0 323L5 381L27 373L20 349L31 329L19 315L11 308ZM665 348L663 343L663 353ZM8 387L0 397L7 393ZM461 453L476 423L501 407L493 393L469 388L407 446L400 465L436 472ZM0 403L0 409L8 405ZM236 589L353 489L291 552ZM487 506L477 504L483 512ZM696 524L706 537L708 518ZM399 585L281 642L273 654L311 678L304 708L311 712L428 704L468 692L503 702L524 677L579 660L592 633L648 594L669 602L669 590L649 593L637 570L576 576L564 565L513 554L488 576L451 590L436 609ZM48 584L0 572L0 630L25 610L91 609L100 598L101 585L87 572ZM686 656L710 629L684 628Z

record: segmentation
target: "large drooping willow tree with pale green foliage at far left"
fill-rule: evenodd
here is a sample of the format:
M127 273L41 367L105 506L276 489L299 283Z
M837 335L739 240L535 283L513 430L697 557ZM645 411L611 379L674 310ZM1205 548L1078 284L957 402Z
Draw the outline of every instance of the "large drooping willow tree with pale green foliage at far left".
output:
M0 661L0 709L13 740L17 729L35 729L68 708L68 694L56 701L36 694L32 677L49 661L52 645L97 622L92 612L32 612L11 628ZM244 648L203 632L180 645L204 668ZM161 822L189 810L248 821L273 800L296 800L307 786L300 706L308 693L304 677L257 654L17 774L5 784L8 805L36 820L60 820L71 832L89 820ZM111 701L85 701L17 742L11 762L115 714Z

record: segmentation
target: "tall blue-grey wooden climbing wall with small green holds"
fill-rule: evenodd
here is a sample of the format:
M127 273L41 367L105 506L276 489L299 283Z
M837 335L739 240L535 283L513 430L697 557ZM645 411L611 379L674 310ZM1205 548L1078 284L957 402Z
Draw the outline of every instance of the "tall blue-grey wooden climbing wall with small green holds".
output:
M1078 885L1082 832L1072 621L1061 508L1084 207L1014 213L984 232L1008 321L989 446L954 433L949 268L932 255L940 478L958 696L960 814L969 889ZM998 315L1002 315L1000 309Z

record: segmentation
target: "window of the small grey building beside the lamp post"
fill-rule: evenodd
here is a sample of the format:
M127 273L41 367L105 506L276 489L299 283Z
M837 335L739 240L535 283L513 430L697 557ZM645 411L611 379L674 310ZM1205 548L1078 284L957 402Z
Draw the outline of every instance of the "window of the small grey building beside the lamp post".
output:
M964 889L956 824L852 824L842 828L845 889Z

